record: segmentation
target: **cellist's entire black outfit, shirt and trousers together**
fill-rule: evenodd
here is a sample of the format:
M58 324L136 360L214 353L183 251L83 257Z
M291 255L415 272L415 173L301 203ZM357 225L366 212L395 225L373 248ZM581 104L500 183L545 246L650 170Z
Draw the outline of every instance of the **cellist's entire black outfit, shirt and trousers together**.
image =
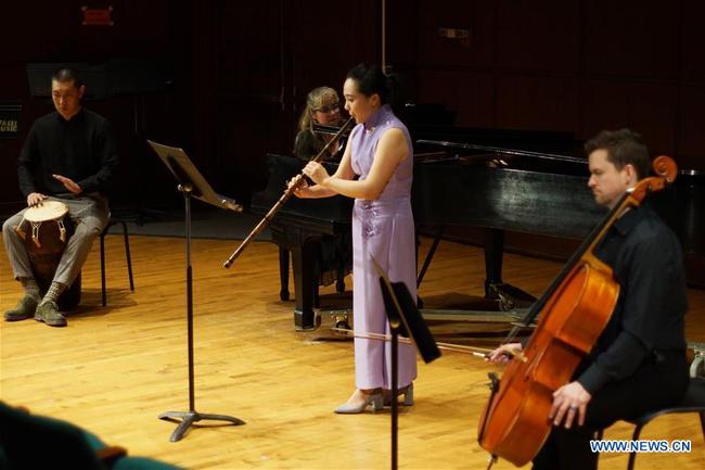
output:
M597 250L614 270L617 306L577 380L591 395L586 423L554 427L534 469L597 469L589 441L597 430L678 402L685 393L683 316L688 309L676 234L642 205L627 212Z

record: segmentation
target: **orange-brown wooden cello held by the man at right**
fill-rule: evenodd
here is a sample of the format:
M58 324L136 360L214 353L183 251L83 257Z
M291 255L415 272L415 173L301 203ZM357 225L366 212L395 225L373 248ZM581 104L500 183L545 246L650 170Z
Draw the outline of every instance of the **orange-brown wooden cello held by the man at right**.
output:
M515 327L538 325L523 350L525 360L512 360L501 379L490 373L490 397L477 430L479 445L517 467L529 462L551 431L549 411L553 392L568 383L590 352L617 304L619 284L612 268L594 250L607 230L650 192L662 190L676 178L676 163L662 155L654 160L656 176L641 179L581 243L549 289ZM509 342L509 341L508 341Z

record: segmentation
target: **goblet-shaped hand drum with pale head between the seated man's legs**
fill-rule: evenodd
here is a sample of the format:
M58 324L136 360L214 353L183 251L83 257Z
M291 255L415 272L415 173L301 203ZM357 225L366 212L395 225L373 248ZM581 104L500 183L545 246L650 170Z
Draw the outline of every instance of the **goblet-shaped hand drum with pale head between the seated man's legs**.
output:
M40 206L29 207L15 231L25 241L31 270L41 290L47 293L54 278L66 242L74 234L75 225L68 216L68 207L59 201L44 201ZM59 309L68 310L80 302L80 274L59 297Z

